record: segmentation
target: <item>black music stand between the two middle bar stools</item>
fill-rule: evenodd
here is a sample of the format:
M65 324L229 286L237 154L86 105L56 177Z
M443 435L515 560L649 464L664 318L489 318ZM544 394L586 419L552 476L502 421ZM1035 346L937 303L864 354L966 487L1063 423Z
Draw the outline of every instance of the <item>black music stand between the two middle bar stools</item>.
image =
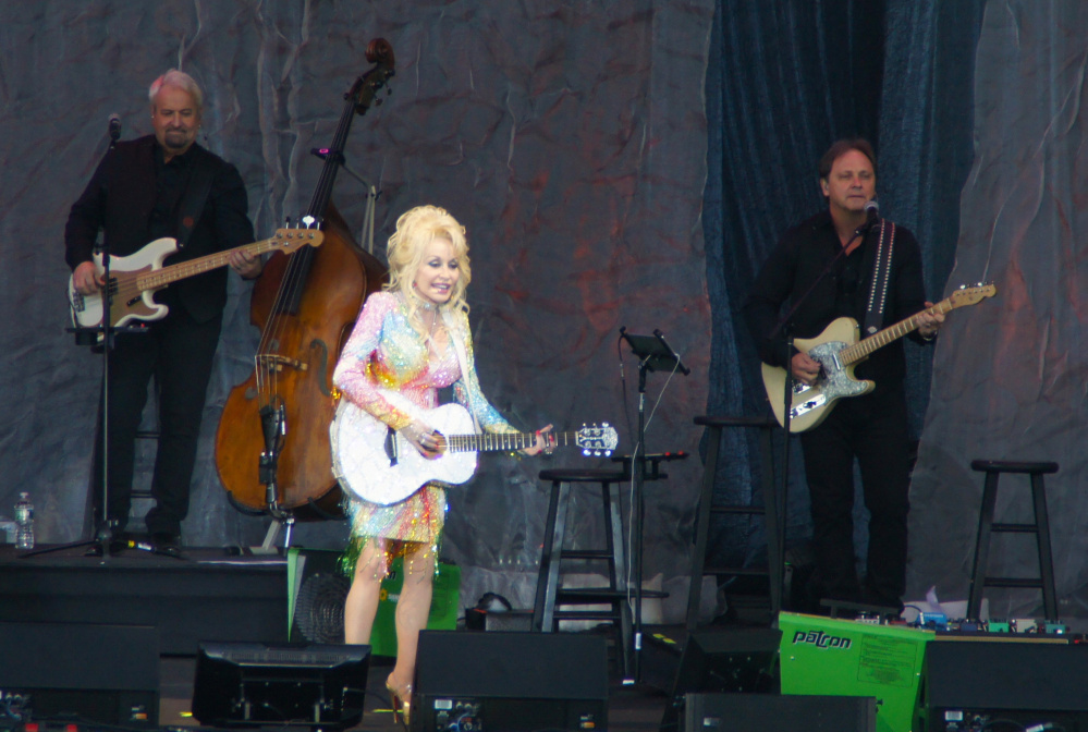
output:
M664 339L660 330L652 335L632 335L626 328L620 328L620 337L627 341L631 352L638 357L638 440L632 452L632 466L635 478L635 521L631 530L634 533L634 556L632 564L635 581L635 617L634 617L634 682L641 679L643 649L643 522L646 507L643 501L643 489L646 484L646 374L647 371L680 371L687 376L692 370L684 365L680 355Z

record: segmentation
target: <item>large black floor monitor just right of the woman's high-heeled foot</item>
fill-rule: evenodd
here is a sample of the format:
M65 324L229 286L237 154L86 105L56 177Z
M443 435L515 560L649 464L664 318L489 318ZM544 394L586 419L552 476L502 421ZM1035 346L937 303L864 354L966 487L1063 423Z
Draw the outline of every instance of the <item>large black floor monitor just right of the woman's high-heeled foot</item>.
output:
M412 731L606 730L608 648L600 635L424 631Z

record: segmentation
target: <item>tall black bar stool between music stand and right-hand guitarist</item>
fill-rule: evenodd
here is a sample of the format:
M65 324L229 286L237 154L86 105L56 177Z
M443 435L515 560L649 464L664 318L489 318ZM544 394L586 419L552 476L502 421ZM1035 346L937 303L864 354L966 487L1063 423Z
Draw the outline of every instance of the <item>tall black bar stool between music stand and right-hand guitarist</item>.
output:
M695 524L695 549L692 554L692 588L687 596L687 630L694 631L699 622L699 602L702 599L702 575L745 576L767 575L770 586L771 619L778 618L782 608L782 532L779 524L779 498L774 487L774 465L771 459L771 435L779 423L771 417L696 417L695 424L707 428L707 462L702 471L702 490ZM763 468L762 505L713 505L714 475L722 430L725 428L755 428L759 430L759 450ZM707 566L707 534L710 514L759 514L767 525L767 569Z

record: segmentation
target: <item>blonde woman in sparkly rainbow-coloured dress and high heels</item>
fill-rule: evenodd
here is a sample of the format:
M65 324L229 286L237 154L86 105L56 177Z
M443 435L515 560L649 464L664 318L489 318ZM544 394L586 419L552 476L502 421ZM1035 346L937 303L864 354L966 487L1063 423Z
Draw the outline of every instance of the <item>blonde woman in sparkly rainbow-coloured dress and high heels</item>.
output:
M387 256L389 284L367 298L333 375L342 398L398 430L425 457L439 454L438 436L413 418L411 407L438 406L438 389L451 385L456 401L480 428L517 431L488 403L473 365L465 303L472 272L464 227L444 209L418 206L398 219ZM547 439L541 435L550 429L540 430L535 444L523 452L540 452ZM386 685L406 713L416 643L430 611L445 490L428 483L390 505L350 491L345 496L352 526L346 559L354 562L344 607L347 643L370 642L381 580L394 557L404 558L395 615L396 664Z

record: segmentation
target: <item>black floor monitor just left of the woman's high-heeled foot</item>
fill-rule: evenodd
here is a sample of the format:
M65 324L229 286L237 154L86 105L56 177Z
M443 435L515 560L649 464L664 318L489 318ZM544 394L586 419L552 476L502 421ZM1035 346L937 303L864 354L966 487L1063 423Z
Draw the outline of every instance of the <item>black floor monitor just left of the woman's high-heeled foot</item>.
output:
M369 646L201 643L193 716L206 727L343 730L363 719Z

